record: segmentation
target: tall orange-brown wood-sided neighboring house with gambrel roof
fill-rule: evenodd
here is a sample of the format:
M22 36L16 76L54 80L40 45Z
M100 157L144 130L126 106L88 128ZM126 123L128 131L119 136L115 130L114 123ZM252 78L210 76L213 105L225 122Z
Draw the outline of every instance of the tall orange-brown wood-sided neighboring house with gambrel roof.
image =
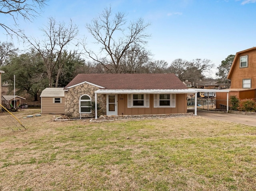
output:
M236 96L239 99L256 98L256 47L237 52L228 73L230 80L229 96ZM216 107L224 104L227 99L225 93L217 94Z

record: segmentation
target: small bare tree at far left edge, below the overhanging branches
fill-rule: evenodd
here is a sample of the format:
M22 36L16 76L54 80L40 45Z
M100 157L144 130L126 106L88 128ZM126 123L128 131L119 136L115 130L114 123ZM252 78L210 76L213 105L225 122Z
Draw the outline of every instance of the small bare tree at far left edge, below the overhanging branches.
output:
M14 48L13 43L0 41L0 66L8 64L10 56L16 54L17 50L18 48Z

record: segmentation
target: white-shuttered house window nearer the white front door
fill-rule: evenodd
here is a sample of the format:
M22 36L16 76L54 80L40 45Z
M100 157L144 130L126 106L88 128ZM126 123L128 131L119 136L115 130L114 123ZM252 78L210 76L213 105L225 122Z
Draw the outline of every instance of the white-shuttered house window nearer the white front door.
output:
M128 94L127 107L149 107L149 94Z

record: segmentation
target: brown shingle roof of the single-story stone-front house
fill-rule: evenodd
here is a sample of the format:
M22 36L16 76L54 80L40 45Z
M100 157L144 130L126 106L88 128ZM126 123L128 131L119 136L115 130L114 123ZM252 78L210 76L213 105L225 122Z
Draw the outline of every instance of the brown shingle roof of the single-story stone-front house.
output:
M188 89L175 74L78 74L65 88L90 82L106 89Z

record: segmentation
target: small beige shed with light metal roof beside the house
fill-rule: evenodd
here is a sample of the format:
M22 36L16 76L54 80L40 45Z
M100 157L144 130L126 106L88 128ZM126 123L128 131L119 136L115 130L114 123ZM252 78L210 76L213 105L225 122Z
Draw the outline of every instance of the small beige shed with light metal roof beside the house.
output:
M46 88L42 91L40 97L42 114L64 115L65 96L63 88Z

